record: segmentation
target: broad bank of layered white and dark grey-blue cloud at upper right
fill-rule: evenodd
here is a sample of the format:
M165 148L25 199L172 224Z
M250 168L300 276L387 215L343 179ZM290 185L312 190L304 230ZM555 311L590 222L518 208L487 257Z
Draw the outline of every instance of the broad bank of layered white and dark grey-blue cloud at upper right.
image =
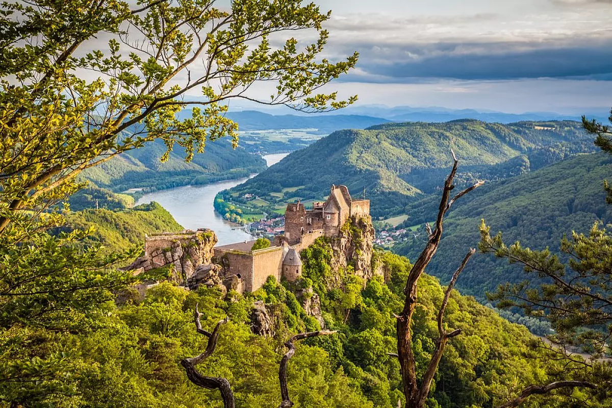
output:
M516 15L341 15L327 23L326 57L359 51L343 81L572 78L612 80L612 10L551 6ZM567 5L567 4L566 4ZM542 3L540 3L542 6Z

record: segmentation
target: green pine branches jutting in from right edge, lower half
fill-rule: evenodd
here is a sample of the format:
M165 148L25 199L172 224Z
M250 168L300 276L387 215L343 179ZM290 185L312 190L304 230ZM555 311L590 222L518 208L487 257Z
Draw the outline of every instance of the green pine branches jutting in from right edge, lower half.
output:
M516 306L527 316L545 317L557 343L580 346L596 357L606 354L612 347L612 237L605 229L594 224L588 236L573 232L572 240L562 239L561 252L571 256L567 265L548 249L532 251L519 242L506 247L501 232L491 237L489 231L483 221L480 250L537 276L503 284L490 299L500 300L501 308Z

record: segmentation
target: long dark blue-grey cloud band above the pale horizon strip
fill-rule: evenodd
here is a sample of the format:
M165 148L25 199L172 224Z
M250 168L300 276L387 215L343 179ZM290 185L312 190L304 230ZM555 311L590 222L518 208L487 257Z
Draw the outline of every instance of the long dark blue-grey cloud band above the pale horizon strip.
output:
M524 47L508 43L441 43L367 48L359 70L364 82L423 82L427 78L513 80L572 78L612 80L612 42L599 46Z

